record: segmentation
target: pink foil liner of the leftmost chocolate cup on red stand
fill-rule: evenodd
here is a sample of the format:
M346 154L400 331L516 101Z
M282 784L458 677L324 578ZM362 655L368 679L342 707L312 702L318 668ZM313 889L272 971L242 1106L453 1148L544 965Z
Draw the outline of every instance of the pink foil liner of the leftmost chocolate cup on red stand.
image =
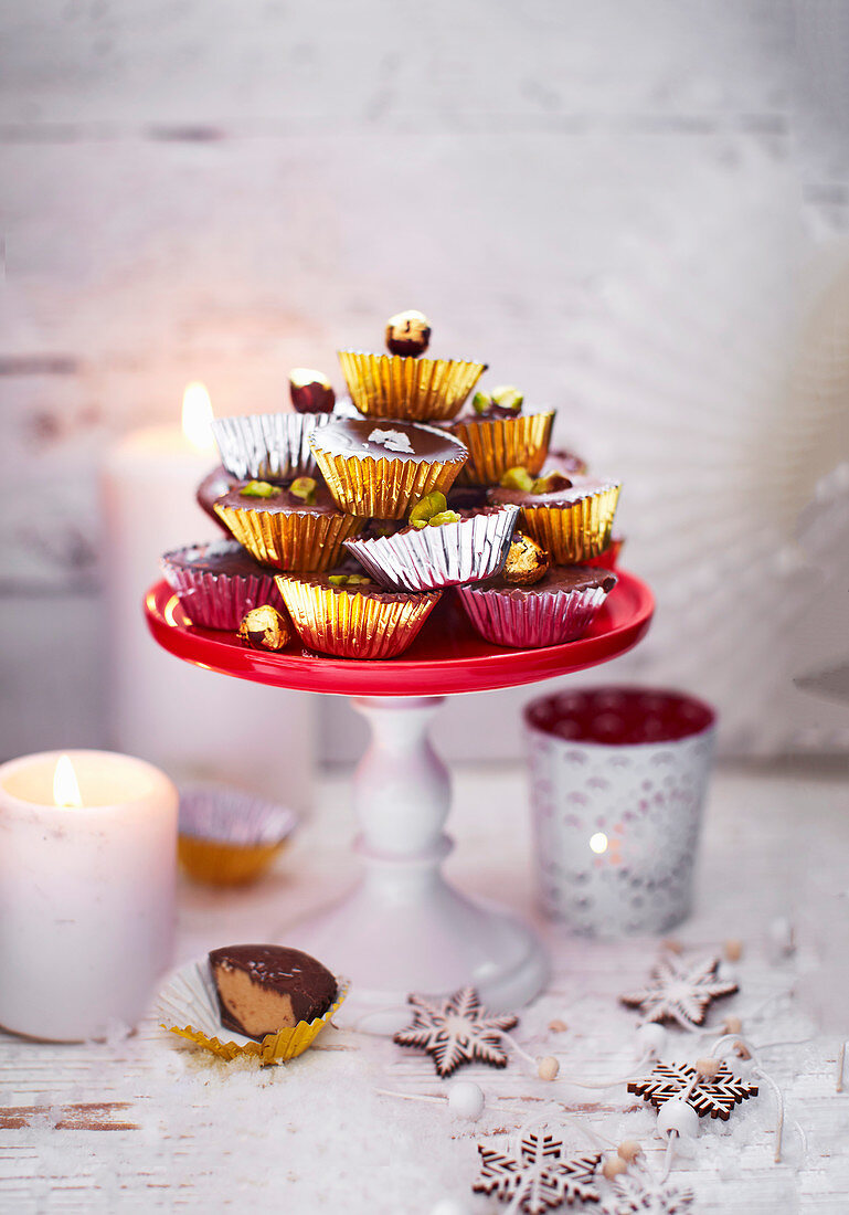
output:
M226 544L227 541L219 543ZM203 548L202 544L192 544L175 549L165 553L160 563L169 586L176 592L192 623L233 632L245 612L262 604L271 604L284 616L288 615L272 573L210 573L182 564L187 554Z

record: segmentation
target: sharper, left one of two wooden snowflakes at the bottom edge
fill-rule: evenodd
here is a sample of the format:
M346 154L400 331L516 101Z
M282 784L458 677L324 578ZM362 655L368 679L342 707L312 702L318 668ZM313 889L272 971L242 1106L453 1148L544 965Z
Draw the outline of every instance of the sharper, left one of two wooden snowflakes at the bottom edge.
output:
M544 1215L564 1203L598 1203L596 1170L600 1152L570 1155L556 1135L528 1131L519 1153L499 1152L479 1143L481 1171L472 1183L479 1194L494 1194L510 1210Z

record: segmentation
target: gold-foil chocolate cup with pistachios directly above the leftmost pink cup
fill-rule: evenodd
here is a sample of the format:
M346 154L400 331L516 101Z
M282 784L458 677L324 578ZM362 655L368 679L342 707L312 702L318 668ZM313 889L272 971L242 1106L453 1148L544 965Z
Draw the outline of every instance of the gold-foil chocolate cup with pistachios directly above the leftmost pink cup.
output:
M323 485L316 485L312 501L282 486L268 485L268 497L247 496L245 488L219 498L216 514L257 561L278 570L330 569L366 524L338 510Z

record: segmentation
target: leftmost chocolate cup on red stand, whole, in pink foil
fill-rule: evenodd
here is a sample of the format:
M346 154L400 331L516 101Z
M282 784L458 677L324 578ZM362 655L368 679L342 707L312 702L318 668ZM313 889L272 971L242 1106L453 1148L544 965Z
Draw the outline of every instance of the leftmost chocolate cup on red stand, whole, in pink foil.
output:
M186 544L162 558L181 606L202 628L237 629L245 612L270 604L284 611L273 573L234 539Z

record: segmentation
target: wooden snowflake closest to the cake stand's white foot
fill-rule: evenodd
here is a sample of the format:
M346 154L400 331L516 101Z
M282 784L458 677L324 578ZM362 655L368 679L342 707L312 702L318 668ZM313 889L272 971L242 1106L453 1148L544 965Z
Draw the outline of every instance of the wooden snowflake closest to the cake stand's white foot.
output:
M413 1023L400 1029L394 1041L430 1055L443 1079L464 1063L506 1067L502 1034L517 1025L519 1018L488 1013L475 988L465 987L447 1000L411 995L407 1002L413 1006Z

